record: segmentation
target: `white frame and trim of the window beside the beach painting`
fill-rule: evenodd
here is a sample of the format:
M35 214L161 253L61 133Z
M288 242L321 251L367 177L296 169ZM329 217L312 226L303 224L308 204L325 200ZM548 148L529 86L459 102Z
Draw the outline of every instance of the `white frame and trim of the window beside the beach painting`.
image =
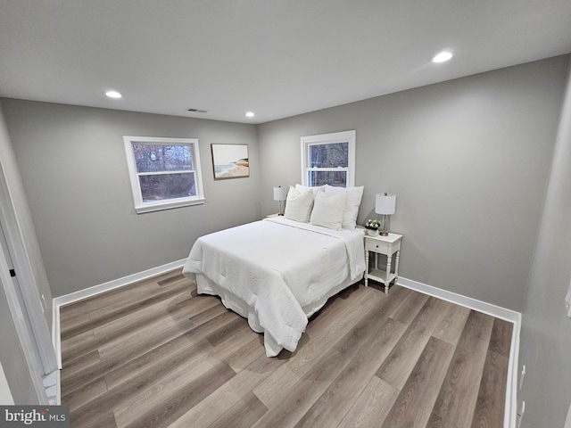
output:
M198 149L198 139L196 138L171 138L160 136L123 136L125 143L125 152L127 153L128 175L131 182L131 191L133 192L133 202L135 202L135 210L137 214L145 212L170 210L172 208L186 207L189 205L199 205L204 203L203 190L203 173L200 166L200 152ZM133 144L188 144L192 147L193 164L194 164L194 183L196 185L196 196L187 198L177 198L165 201L143 202L141 193L141 185L139 183L139 174L137 173L137 165L135 163L135 153L133 152ZM191 171L188 171L191 173ZM144 173L145 174L145 173ZM161 172L153 173L159 175Z

